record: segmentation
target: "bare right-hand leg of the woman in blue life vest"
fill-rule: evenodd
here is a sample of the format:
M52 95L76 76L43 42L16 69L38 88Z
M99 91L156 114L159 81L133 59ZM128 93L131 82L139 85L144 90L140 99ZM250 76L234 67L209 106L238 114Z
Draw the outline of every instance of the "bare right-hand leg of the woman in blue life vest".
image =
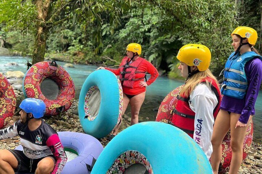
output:
M236 123L238 122L240 114L231 113L230 114L230 133L231 133L231 141L230 145L232 148L232 159L230 163L229 174L237 174L242 163L243 159L243 144L244 139L246 137L247 127L249 121L252 119L252 115L250 115L249 120L247 122L246 127L236 127Z

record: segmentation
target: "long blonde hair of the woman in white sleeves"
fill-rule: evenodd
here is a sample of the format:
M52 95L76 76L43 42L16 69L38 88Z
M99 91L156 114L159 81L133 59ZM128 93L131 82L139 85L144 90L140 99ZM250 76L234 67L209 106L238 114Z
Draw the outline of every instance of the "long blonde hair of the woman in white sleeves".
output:
M214 79L218 85L217 78L212 74L212 72L209 69L207 69L205 71L200 71L197 74L192 75L192 77L190 77L186 81L186 84L180 91L179 95L185 95L185 97L189 97L190 93L195 89L195 87L198 84L202 83L203 79L205 79L206 77ZM211 87L211 83L207 79L205 79L205 82L207 86Z

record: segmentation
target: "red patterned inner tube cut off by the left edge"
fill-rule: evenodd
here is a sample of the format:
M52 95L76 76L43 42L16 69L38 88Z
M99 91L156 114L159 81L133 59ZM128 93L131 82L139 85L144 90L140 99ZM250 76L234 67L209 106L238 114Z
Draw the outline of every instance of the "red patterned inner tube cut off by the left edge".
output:
M0 73L0 129L12 119L15 105L15 92L6 77Z

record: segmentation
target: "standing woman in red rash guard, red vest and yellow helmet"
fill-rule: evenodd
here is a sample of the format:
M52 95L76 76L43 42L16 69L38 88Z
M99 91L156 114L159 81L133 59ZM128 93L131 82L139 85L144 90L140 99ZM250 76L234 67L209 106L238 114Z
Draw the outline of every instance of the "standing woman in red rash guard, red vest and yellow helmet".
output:
M130 43L126 48L127 56L123 58L118 69L110 69L99 67L99 69L106 69L120 76L120 81L124 93L124 104L122 115L124 115L127 106L130 103L131 107L131 125L138 123L138 114L144 102L146 95L146 86L153 83L158 77L157 69L146 59L139 57L142 48L138 43ZM146 72L151 74L150 79L146 82ZM121 122L114 129L113 134L108 137L112 140L116 136Z

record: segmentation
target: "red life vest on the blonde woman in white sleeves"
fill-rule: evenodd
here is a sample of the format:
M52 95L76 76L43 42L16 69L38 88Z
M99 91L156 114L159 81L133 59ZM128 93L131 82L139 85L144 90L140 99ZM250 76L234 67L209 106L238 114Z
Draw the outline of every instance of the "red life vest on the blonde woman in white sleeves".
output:
M216 118L221 103L221 93L214 79L210 77L207 77L206 79L209 81L209 83L211 83L211 89L214 91L218 99L218 104L213 110L213 116L214 118ZM205 79L203 79L202 82L204 83ZM182 96L178 95L177 99L178 99L177 106L172 111L171 120L169 121L169 123L174 125L175 127L180 128L182 131L186 132L191 138L193 138L193 134L195 130L194 121L195 121L196 113L192 111L192 109L189 107L189 103L188 103L189 96L185 97L185 95ZM202 121L200 120L200 122Z

